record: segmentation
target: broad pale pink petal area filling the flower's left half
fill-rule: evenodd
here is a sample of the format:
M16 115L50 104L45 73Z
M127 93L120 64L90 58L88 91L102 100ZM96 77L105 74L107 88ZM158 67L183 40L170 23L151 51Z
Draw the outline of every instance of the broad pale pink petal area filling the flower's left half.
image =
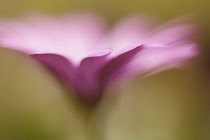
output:
M0 44L29 54L54 53L79 63L104 33L101 18L90 14L60 18L29 16L0 21Z

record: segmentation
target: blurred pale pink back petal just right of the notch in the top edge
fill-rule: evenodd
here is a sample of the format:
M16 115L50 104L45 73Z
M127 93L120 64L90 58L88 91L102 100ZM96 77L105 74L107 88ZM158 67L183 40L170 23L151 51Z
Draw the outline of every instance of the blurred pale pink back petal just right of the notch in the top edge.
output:
M113 48L112 56L119 55L127 48L140 46L145 42L153 22L147 16L130 16L118 22L99 45Z

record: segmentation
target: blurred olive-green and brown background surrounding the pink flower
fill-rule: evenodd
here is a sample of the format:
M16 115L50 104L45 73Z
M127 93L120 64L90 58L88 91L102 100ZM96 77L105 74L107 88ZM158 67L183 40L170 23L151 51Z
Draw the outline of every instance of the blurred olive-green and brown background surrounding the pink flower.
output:
M168 70L110 88L93 110L27 56L0 49L0 140L209 140L210 1L0 0L0 17L28 12L94 11L110 24L132 14L160 22L193 14L201 55Z

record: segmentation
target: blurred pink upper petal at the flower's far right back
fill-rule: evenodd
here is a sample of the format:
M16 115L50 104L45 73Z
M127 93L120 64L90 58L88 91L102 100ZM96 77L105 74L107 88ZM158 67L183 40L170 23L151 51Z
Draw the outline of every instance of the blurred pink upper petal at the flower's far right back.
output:
M177 18L157 27L149 33L147 43L154 47L170 47L169 44L186 41L198 33L198 29L187 17Z

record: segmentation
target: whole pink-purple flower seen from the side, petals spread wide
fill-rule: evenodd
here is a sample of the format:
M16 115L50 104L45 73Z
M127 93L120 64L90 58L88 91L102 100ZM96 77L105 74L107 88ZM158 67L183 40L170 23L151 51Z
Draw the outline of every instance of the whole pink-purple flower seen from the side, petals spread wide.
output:
M29 16L0 21L0 44L31 55L88 104L121 78L177 66L197 54L194 26L177 20L151 30L129 17L111 31L91 14Z

